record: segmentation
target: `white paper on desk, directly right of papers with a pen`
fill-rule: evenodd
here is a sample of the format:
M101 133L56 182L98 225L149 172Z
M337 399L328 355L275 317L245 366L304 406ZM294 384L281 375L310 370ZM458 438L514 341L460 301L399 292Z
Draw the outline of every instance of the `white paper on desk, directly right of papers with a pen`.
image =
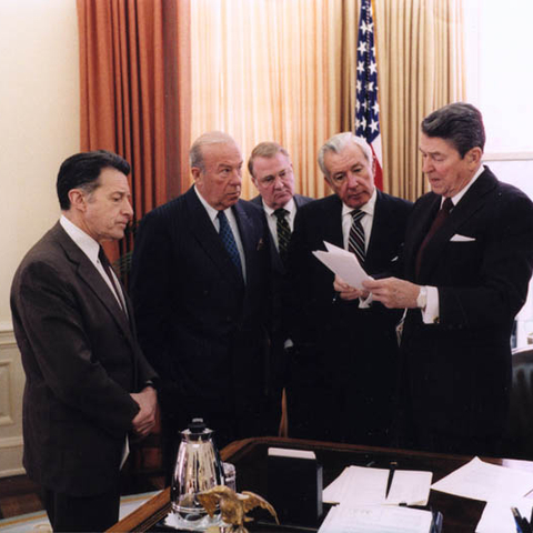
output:
M473 500L520 499L533 490L533 473L485 463L480 457L431 486L435 491Z

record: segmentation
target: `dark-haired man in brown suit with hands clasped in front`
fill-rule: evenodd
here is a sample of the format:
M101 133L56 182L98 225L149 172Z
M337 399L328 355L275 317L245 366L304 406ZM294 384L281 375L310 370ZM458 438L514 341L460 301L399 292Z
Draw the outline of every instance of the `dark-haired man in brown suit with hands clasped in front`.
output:
M100 252L131 220L129 171L105 151L67 159L57 182L62 217L11 288L27 376L23 463L43 487L53 531L104 531L118 521L127 435L147 435L155 423L157 374Z

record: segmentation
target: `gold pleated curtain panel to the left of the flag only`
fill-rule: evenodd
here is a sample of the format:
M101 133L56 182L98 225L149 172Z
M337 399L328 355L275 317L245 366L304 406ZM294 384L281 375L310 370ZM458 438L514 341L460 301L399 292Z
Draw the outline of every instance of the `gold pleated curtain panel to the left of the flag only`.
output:
M278 141L291 153L296 191L324 195L316 152L340 129L340 6L336 0L194 0L191 139L227 131L245 161L257 143ZM255 194L244 178L243 198Z

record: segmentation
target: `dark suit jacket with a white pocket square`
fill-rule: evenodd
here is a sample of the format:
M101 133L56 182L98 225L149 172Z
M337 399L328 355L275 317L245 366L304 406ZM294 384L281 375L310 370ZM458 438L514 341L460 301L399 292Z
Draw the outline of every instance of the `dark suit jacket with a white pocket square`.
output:
M408 313L405 386L419 424L457 435L502 432L511 385L510 336L533 262L533 205L485 171L415 258L441 197L419 199L405 237L409 280L439 289L440 322ZM469 238L460 242L454 235Z

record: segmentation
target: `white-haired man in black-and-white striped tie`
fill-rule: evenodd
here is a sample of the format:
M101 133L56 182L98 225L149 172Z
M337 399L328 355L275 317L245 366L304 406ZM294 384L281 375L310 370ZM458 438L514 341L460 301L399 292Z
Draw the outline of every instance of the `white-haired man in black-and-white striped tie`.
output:
M328 140L319 164L335 194L298 211L289 250L295 344L288 386L290 434L389 444L400 314L363 298L336 298L333 273L312 252L326 241L353 251L370 274L390 271L412 205L376 190L372 151L353 133Z

